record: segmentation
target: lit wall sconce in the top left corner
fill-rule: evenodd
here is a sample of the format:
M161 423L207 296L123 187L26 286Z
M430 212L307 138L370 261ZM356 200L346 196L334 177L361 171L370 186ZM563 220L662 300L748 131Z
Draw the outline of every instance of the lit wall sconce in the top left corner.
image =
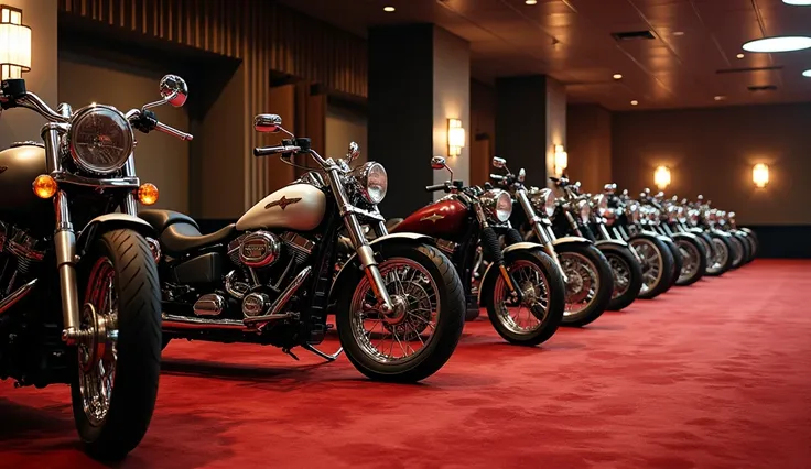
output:
M22 24L22 10L0 6L0 74L22 78L31 70L31 28Z

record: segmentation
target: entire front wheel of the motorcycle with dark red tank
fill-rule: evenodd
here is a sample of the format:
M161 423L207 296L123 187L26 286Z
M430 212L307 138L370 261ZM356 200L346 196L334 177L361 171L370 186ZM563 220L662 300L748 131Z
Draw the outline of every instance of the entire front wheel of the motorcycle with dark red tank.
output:
M493 327L510 343L545 342L558 330L565 309L566 287L560 270L540 250L509 251L504 262L521 299L512 297L504 275L494 265L482 292Z

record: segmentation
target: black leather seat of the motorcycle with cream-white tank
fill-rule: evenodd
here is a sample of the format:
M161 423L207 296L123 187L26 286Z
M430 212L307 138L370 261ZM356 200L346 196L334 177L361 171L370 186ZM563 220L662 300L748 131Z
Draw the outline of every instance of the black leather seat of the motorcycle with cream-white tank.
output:
M187 215L172 210L143 210L138 214L160 233L161 249L167 254L182 254L214 244L225 244L237 232L236 225L202 234L199 226Z

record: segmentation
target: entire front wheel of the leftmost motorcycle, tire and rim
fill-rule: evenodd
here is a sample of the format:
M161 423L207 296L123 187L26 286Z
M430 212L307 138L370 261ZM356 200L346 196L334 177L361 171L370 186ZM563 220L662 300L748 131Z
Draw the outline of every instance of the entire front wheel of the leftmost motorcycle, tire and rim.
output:
M85 257L87 287L72 383L87 452L123 458L147 433L161 371L161 296L147 241L128 229L101 234Z

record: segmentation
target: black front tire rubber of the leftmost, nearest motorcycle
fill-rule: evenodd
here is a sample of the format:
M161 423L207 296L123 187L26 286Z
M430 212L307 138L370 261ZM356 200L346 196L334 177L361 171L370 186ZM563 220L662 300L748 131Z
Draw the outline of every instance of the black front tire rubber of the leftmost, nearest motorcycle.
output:
M73 373L71 394L86 451L99 460L118 460L138 446L152 419L161 371L161 292L152 252L137 232L118 229L101 234L84 258L89 262L80 266L80 287L89 286L90 269L104 258L109 259L115 273L119 330L106 418L94 425L85 414L78 370ZM88 291L85 288L85 301Z

